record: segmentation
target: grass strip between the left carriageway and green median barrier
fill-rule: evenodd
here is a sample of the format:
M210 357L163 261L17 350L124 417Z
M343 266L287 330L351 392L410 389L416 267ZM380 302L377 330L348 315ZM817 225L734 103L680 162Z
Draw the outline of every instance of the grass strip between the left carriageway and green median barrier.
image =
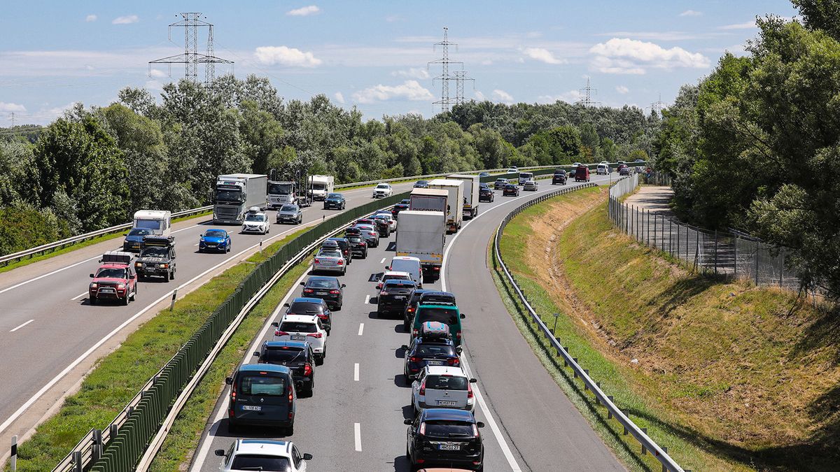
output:
M76 394L68 396L55 416L41 424L32 438L18 447L18 470L39 472L52 469L92 427L106 427L134 397L146 380L155 375L207 317L234 291L239 282L274 254L282 244L308 228L270 244L225 270L175 303L172 312L163 310L114 350L99 359ZM8 469L8 465L6 466Z

